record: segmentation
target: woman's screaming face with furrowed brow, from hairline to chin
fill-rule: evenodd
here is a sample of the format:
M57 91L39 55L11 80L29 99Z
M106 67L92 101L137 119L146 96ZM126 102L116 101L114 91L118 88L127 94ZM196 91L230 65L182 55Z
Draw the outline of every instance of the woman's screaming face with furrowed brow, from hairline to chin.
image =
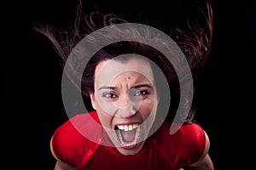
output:
M92 105L114 146L123 155L137 154L148 137L158 104L148 61L102 61L96 66L94 88Z

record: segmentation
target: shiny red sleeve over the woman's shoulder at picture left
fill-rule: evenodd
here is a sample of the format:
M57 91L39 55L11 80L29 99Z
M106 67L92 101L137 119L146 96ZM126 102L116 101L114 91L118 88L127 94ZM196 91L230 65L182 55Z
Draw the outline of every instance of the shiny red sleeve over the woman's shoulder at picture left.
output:
M90 129L91 133L96 133L95 128L88 127L91 124L89 117L90 114L74 116L61 127L58 127L53 134L52 150L55 156L72 167L84 167L99 145L87 139L80 132L81 129L85 128Z

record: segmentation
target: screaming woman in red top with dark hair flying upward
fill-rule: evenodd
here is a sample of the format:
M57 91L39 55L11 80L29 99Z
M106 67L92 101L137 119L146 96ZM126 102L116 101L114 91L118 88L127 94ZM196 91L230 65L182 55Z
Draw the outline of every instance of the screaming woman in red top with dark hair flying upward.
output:
M93 20L94 16L97 16L96 22ZM36 31L49 37L55 44L66 65L70 64L67 58L69 54L73 54L73 48L78 49L78 42L90 32L101 26L126 23L112 14L93 13L90 20L86 20L86 26L91 31L86 32L84 30L88 29L83 30L84 27L80 25L80 17L81 6L72 38L67 36L70 34L63 36L51 27L35 27ZM183 36L179 37L182 41L178 44L189 61L193 76L201 70L209 53L211 17L209 8L209 35L201 27L196 27L194 37L178 34ZM96 48L95 42L101 38L121 37L127 31L139 32L136 28L125 29L112 29L99 36L90 37L90 48ZM144 37L152 36L148 30L143 31L146 32ZM152 38L156 44L161 41L159 37ZM83 50L79 49L78 54ZM67 65L67 75L81 88L85 101L90 99L92 108L89 113L70 117L53 134L50 148L57 160L55 170L214 169L208 155L210 142L207 133L199 124L193 122L192 109L189 108L188 116L179 117L179 121L184 123L176 133L170 134L170 127L178 124L178 121L174 121L180 97L178 78L175 69L160 51L142 42L108 44L88 59L81 84L77 76L80 63L83 63L83 57L76 59L76 63ZM161 114L163 110L160 108L166 107L166 98L163 96L167 92L166 88L162 89L165 78L159 77L160 74L156 73L158 70L166 77L172 101L176 101L171 104L167 101L168 110L164 110L164 114Z

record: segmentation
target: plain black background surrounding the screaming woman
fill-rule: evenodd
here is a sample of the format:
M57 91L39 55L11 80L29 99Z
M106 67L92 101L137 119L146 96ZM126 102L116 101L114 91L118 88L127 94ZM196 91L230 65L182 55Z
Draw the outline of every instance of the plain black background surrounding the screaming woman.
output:
M88 14L98 8L128 18L147 17L149 24L167 33L171 25L192 17L189 13L193 8L203 4L203 1L184 0L83 2ZM233 118L250 117L247 105L253 104L248 94L253 95L249 90L255 84L253 49L256 27L253 1L211 2L214 14L212 53L195 80L195 100L197 119L211 140L210 156L218 170L234 164L238 167L237 162L242 159L237 152L243 149L236 142L246 138L239 136L234 139L241 129L241 122L234 123ZM3 90L12 94L8 108L14 109L8 119L10 122L3 121L3 124L7 123L3 127L7 136L4 141L11 145L6 148L5 157L10 162L6 162L8 169L48 170L55 166L55 159L49 151L49 139L56 127L67 120L61 99L60 58L49 40L32 31L31 26L37 21L65 28L72 23L77 5L78 1L74 0L20 1L15 6L11 4L12 8L6 13L11 18L6 42L10 65L3 72L12 74L4 85L9 87L11 82L13 86L10 91ZM232 144L236 147L230 147ZM232 159L228 159L230 157Z

